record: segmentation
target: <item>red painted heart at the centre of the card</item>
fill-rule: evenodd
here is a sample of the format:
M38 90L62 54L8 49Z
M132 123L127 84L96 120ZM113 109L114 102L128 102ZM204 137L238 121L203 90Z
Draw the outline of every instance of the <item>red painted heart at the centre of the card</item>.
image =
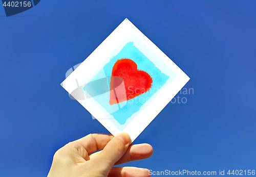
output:
M115 89L115 81L114 79L111 79L110 89L114 89L114 91L110 92L110 105L132 99L147 92L152 87L153 80L150 74L138 70L137 64L131 59L117 60L112 69L112 78L113 76L121 77L123 79L126 95L121 93L124 92L124 90L118 91L118 89ZM117 97L116 95L119 96Z

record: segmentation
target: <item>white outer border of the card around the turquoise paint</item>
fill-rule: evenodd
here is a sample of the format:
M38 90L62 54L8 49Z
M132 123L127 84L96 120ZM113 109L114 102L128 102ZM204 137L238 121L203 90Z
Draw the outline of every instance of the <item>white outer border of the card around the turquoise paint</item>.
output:
M92 77L99 71L99 66L104 63L106 58L113 57L113 51L120 47L121 44L130 36L137 35L137 38L151 50L168 67L174 71L177 76L173 82L165 84L158 95L154 97L152 102L147 105L125 128L122 132L130 135L132 142L147 127L148 124L162 111L162 109L173 99L173 97L182 89L189 81L188 76L170 60L150 39L141 33L134 24L127 18L93 51L93 53L84 60L61 86L70 94L85 79L90 81ZM140 48L138 48L140 49ZM141 51L143 53L143 51ZM143 53L144 54L144 53ZM145 54L144 54L145 55ZM145 55L146 56L146 55ZM146 56L151 60L150 56ZM154 62L153 62L154 63ZM155 64L155 63L154 63ZM157 65L156 65L157 66ZM161 66L157 66L160 67ZM102 67L101 67L102 68ZM93 75L93 73L95 73ZM120 131L114 123L108 119L98 106L94 105L90 99L77 100L84 108L86 108L111 134L116 136Z

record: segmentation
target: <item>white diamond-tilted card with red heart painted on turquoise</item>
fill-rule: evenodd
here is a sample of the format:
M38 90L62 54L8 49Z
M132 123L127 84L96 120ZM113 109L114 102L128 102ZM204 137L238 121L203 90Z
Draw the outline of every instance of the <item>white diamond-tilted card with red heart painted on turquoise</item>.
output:
M126 18L61 86L111 134L134 141L188 80Z

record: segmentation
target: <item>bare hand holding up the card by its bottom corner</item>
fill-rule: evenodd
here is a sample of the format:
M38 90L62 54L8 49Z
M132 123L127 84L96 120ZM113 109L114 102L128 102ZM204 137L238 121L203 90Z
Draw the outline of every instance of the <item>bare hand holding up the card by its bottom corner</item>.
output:
M48 177L150 176L148 169L144 168L113 167L152 156L150 144L129 146L130 142L130 136L126 133L116 137L90 134L70 142L56 151ZM103 150L97 151L100 149Z

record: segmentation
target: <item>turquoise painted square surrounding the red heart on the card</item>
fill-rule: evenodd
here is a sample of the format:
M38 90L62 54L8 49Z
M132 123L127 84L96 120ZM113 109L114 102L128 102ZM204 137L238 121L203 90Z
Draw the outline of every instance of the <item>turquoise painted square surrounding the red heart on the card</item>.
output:
M151 75L153 79L152 88L148 90L146 93L143 93L133 99L127 100L127 102L122 102L116 105L110 105L110 93L101 94L93 97L93 99L103 107L105 112L109 113L111 120L113 118L118 122L115 125L117 128L124 129L120 125L124 125L127 123L127 119L132 117L135 113L140 112L143 109L143 105L147 102L150 102L152 96L158 93L158 90L164 86L168 79L174 80L176 77L176 73L172 72L172 75L165 75L161 70L159 70L155 64L149 60L140 50L134 45L133 42L127 43L120 52L110 59L110 62L105 64L103 68L95 75L95 77L91 81L95 81L97 79L108 77L112 75L112 68L118 59L129 58L133 60L137 64L138 70L143 70ZM88 88L87 88L88 89ZM97 87L97 89L106 89L105 87ZM98 90L98 91L99 91ZM131 120L130 120L131 121ZM121 128L122 127L122 128Z

